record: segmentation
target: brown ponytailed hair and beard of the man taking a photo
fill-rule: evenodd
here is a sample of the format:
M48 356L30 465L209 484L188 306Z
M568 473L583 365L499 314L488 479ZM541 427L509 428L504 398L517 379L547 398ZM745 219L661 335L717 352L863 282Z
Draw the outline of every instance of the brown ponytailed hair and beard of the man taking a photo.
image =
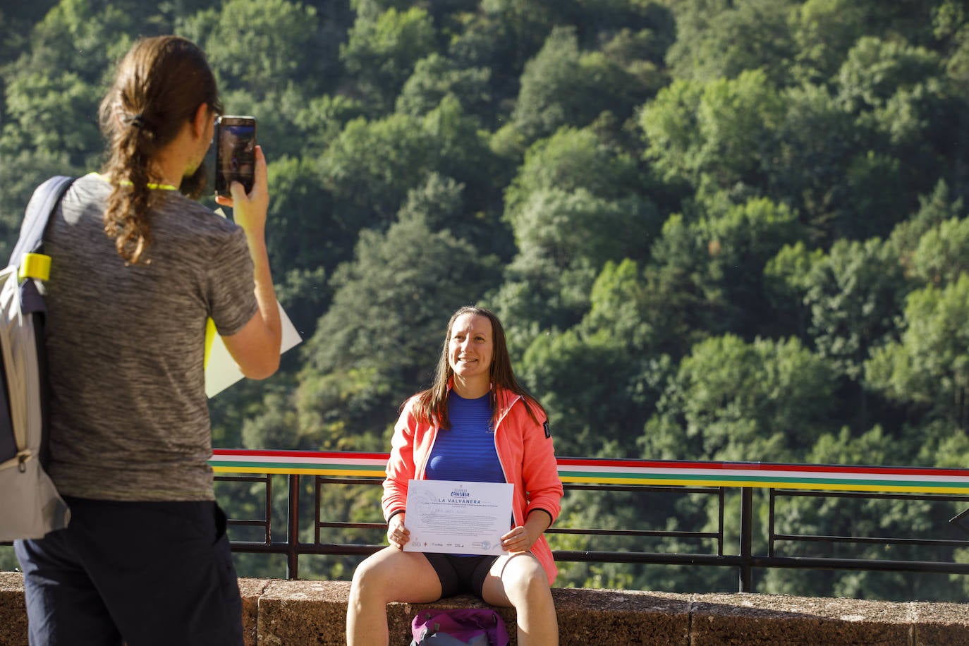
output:
M202 49L191 41L178 36L145 38L118 65L100 117L108 139L104 174L112 185L105 233L125 262L140 261L151 244L149 209L165 194L148 188L155 156L203 104L222 111L215 77ZM179 189L195 199L204 184L200 167Z

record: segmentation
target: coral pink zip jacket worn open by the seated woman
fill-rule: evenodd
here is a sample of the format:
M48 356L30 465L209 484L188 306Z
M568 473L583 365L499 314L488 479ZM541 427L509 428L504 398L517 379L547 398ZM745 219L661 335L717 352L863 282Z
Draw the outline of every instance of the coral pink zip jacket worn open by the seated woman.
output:
M416 403L415 396L404 404L393 428L391 457L384 480L383 508L387 520L406 508L408 480L424 478L427 459L438 434L436 424L418 420ZM525 518L536 509L546 511L554 522L561 510L563 489L545 415L532 406L532 413L539 420L535 423L521 397L504 389L497 391L495 407L494 445L505 481L515 485L512 496L515 524L524 525ZM545 569L550 586L558 569L544 535L532 545L532 554Z

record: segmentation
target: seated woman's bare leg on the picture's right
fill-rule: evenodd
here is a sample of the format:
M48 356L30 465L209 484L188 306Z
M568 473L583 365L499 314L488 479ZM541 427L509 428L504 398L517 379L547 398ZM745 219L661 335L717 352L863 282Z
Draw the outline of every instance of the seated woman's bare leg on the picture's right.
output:
M515 608L518 646L558 645L558 617L548 578L531 554L498 557L485 577L482 596L491 605Z

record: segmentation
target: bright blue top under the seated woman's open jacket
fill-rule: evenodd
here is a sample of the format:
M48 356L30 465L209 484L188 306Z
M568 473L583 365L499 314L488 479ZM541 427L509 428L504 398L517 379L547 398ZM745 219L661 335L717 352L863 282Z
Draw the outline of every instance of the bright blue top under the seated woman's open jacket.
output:
M453 390L448 395L450 429L439 429L427 460L428 480L504 482L491 428L488 395L464 399Z

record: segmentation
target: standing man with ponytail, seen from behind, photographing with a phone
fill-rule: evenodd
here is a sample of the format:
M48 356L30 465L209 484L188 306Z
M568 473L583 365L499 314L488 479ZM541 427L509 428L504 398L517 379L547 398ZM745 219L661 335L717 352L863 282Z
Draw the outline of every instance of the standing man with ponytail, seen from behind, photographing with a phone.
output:
M66 529L16 541L31 644L241 644L215 503L203 346L211 319L243 374L279 365L266 159L234 223L194 199L220 113L191 42L136 43L101 105L108 162L50 218L50 450Z

